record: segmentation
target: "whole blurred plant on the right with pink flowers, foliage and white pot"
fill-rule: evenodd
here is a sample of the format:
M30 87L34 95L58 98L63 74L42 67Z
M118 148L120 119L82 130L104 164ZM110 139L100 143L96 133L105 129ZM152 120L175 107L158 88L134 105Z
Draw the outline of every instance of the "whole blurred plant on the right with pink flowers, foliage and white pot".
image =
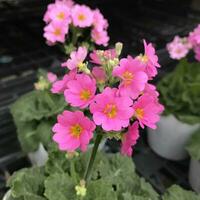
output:
M187 156L185 145L200 123L200 64L188 61L185 56L194 50L199 61L200 36L198 26L187 38L176 36L167 45L171 58L180 60L174 71L159 83L160 99L165 112L157 130L148 130L151 148L160 156L182 160Z

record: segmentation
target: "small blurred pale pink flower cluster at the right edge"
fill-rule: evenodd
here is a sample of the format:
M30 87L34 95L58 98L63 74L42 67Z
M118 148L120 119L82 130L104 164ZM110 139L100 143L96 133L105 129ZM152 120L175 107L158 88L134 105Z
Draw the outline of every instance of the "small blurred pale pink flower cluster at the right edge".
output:
M173 41L167 44L167 50L172 59L180 60L187 56L190 50L195 53L195 58L200 61L200 25L198 25L187 37L175 36Z

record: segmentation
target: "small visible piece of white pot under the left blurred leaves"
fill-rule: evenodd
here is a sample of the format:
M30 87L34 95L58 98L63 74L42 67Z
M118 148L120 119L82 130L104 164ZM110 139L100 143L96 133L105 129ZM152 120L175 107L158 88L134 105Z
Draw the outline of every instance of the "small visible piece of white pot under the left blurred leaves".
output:
M29 153L28 157L32 165L43 166L48 159L48 152L45 150L44 146L40 144L38 150Z

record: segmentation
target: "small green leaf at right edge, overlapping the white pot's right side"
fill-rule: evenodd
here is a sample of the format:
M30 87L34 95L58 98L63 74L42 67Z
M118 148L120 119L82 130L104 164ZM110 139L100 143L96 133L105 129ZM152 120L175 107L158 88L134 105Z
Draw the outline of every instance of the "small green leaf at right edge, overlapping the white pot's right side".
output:
M192 159L200 161L200 129L192 135L186 149Z

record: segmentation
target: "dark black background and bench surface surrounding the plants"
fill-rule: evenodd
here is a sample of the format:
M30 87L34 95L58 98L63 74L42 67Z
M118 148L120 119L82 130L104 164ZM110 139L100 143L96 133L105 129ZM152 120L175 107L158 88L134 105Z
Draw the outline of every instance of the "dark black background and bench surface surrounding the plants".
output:
M0 0L0 198L6 191L6 178L13 171L29 166L21 152L9 105L33 89L36 70L40 67L61 73L63 54L48 47L42 36L43 14L47 0ZM124 43L124 55L143 51L142 39L152 42L162 68L158 79L173 69L165 50L175 35L186 35L198 22L200 12L191 0L80 0L98 7L109 21L110 44ZM194 8L196 10L194 10ZM200 8L199 8L200 9ZM187 181L188 161L169 162L156 156L146 143L146 132L136 146L134 161L139 174L162 193L178 183L190 188ZM109 151L117 151L115 141Z

